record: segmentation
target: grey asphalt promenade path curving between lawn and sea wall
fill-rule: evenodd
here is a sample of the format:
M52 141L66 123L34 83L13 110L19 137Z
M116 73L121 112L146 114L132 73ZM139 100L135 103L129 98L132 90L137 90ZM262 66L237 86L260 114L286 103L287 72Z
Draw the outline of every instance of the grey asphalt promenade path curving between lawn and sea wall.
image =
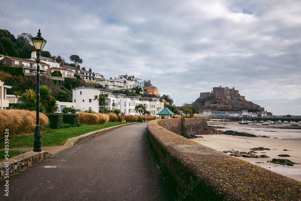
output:
M9 197L0 182L1 200L174 200L146 126L121 127L52 155L10 177Z

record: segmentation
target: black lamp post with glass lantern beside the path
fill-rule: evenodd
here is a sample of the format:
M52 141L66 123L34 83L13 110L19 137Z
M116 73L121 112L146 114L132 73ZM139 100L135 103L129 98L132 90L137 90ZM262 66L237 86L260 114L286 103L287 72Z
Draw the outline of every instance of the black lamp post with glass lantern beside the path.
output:
M35 46L35 49L37 51L37 58L36 58L36 62L37 62L37 105L36 105L36 111L37 111L37 115L36 115L36 131L34 134L34 138L35 140L33 140L33 151L34 152L40 152L41 151L41 133L40 133L40 56L41 56L41 52L42 49L44 48L45 44L46 44L46 40L42 38L41 33L40 33L40 29L38 32L38 35L36 37L31 38L31 40L33 41L33 46Z

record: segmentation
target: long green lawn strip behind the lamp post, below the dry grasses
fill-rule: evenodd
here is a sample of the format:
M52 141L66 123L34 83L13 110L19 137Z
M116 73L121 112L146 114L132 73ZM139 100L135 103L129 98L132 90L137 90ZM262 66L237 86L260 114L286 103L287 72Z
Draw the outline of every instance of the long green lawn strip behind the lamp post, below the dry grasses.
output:
M42 133L42 144L41 146L55 146L55 145L64 145L69 138L77 137L85 133L90 133L92 131L118 126L122 124L129 124L134 122L109 122L106 125L93 125L93 126L81 126L73 128L60 128L47 130L45 133ZM17 136L9 139L9 147L33 147L33 135L23 135ZM0 142L0 148L4 148L4 140ZM10 151L11 152L11 151Z

